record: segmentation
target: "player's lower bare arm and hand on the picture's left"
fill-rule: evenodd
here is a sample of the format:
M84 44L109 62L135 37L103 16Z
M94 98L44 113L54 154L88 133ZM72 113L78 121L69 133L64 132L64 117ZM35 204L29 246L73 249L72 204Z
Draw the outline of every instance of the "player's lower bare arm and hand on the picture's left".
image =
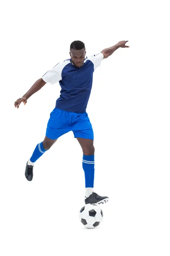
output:
M15 108L16 108L16 107L19 108L21 102L23 102L24 105L26 105L27 99L28 99L29 97L31 97L31 95L33 95L34 93L36 93L37 91L39 91L45 84L46 84L46 82L45 82L42 78L38 79L38 80L31 86L31 88L28 90L28 92L23 95L23 97L21 97L20 99L17 99L17 100L16 100L16 102L14 103Z

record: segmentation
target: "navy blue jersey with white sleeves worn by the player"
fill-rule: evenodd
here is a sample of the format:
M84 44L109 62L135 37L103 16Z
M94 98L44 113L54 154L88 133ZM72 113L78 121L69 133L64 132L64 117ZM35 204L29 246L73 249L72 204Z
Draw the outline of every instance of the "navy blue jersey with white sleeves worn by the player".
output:
M100 66L103 58L101 52L86 57L81 67L74 66L70 58L59 62L42 76L46 83L59 82L61 86L61 94L56 101L56 108L75 113L86 111L91 94L93 73Z

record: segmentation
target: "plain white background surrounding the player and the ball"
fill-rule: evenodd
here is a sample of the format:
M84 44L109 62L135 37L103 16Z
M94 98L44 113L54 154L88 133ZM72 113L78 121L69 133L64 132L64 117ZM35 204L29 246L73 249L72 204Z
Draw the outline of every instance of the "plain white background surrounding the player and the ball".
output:
M168 1L8 1L1 6L1 256L170 255L170 41ZM3 39L2 39L3 38ZM80 223L85 180L72 132L34 165L59 83L14 102L69 58L72 41L86 55L119 41L94 73L88 116L94 128L99 227Z

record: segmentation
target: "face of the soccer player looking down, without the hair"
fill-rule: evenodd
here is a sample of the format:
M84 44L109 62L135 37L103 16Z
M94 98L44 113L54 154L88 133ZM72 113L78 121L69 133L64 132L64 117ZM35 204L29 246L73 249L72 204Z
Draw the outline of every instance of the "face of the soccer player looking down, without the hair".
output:
M85 48L81 50L75 50L71 49L70 51L70 56L71 56L71 61L76 67L81 67L84 60L85 60Z

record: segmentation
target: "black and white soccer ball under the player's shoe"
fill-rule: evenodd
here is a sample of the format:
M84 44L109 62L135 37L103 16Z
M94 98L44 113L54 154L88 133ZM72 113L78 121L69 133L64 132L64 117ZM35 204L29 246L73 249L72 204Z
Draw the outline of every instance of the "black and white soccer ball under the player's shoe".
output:
M103 220L103 212L96 204L86 204L79 211L79 220L87 228L99 226Z

